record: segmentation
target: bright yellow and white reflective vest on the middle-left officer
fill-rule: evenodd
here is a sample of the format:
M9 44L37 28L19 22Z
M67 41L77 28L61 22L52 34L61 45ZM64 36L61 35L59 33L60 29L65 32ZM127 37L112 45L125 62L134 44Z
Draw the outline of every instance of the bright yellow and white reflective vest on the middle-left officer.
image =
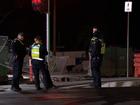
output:
M32 45L32 50L31 50L32 59L43 60L42 58L40 58L39 49L40 49L40 44Z

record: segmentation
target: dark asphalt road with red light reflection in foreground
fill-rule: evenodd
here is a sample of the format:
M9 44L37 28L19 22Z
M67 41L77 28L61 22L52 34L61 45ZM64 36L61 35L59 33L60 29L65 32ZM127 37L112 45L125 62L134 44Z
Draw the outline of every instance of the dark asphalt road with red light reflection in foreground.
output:
M36 91L34 85L22 85L13 92L10 85L0 86L0 105L140 105L140 87L58 88Z

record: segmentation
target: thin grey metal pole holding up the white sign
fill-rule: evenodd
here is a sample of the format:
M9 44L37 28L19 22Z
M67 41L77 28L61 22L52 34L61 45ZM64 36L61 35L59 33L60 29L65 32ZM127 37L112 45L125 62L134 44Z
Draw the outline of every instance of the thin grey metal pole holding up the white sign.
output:
M129 12L127 14L127 77L129 77Z

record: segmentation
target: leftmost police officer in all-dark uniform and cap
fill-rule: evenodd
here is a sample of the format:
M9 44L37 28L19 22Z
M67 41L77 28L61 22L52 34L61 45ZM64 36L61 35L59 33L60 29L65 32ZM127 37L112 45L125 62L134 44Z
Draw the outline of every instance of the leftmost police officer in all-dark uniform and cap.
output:
M14 91L21 91L19 87L20 78L22 77L22 67L24 57L26 55L26 47L23 43L24 33L19 33L17 38L12 43L13 53L13 78L11 89Z

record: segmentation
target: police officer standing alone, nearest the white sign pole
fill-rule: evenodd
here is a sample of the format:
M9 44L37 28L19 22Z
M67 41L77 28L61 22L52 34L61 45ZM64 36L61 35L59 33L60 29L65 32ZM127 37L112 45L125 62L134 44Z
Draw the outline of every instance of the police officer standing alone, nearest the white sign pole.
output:
M105 43L103 42L102 34L97 27L93 27L92 38L90 40L89 55L91 63L91 73L95 88L101 88L101 63L105 52Z

